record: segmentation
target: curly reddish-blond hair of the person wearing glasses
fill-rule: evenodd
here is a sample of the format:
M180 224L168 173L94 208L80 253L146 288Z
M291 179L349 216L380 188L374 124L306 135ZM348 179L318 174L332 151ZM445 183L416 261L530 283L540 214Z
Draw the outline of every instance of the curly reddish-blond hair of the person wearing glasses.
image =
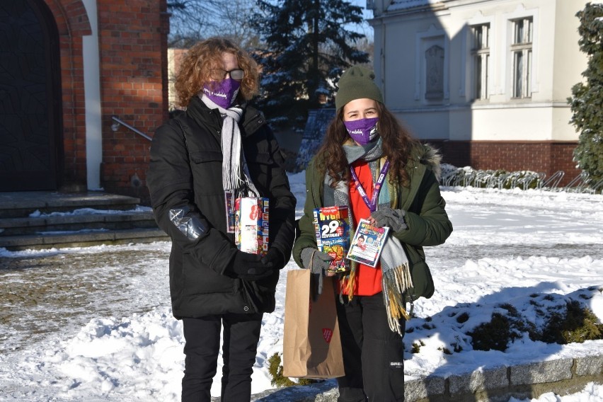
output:
M195 43L183 57L174 86L180 106L187 106L205 84L212 81L212 69L222 68L222 54L232 53L245 71L237 101L248 101L259 91L258 64L234 42L225 38L209 38Z

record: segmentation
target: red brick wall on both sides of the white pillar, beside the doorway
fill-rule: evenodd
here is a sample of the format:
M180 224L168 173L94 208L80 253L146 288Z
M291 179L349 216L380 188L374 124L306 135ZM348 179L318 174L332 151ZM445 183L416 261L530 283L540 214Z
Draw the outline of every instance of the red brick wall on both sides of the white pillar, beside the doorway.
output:
M86 104L82 36L91 35L81 0L45 0L59 31L62 81L62 190L86 190ZM97 0L103 114L101 185L148 203L148 139L168 118L166 0Z

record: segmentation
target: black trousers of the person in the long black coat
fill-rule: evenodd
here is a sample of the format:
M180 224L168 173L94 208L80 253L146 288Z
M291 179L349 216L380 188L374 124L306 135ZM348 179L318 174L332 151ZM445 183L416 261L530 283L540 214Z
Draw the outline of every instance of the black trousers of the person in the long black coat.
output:
M260 340L262 314L222 314L183 318L186 340L183 402L212 400L212 379L217 371L222 323L222 401L248 402L251 399L251 374Z

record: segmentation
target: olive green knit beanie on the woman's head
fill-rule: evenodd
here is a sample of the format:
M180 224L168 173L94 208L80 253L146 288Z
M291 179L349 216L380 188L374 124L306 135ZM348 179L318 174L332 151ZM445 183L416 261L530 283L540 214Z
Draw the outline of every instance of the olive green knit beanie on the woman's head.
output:
M364 67L354 66L345 70L337 83L339 89L335 96L335 109L339 110L346 103L362 98L384 103L381 90L374 79L374 72Z

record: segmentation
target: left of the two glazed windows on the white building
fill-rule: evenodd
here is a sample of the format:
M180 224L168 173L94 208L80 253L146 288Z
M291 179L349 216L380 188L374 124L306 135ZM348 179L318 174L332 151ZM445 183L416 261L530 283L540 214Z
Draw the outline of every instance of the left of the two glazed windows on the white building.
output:
M490 74L490 24L471 27L471 56L473 58L473 98L488 99Z

